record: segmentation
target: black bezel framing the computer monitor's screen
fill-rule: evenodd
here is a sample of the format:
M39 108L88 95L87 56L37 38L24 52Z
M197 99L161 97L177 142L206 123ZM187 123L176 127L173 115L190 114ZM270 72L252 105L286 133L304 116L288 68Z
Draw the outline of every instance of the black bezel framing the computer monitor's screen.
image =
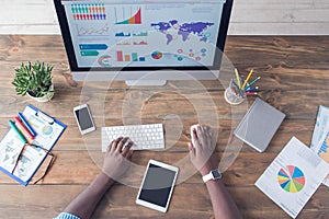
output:
M54 0L55 10L57 13L57 19L59 23L59 27L61 31L61 36L64 41L64 45L66 48L66 54L68 57L68 62L71 72L88 72L88 71L157 71L157 70L178 70L178 71L204 71L204 70L211 70L211 71L218 71L222 64L223 53L225 48L227 32L228 32L228 25L229 20L231 15L231 8L232 8L234 0L226 0L223 7L222 12L222 20L220 20L220 26L219 26L219 34L217 36L217 49L215 53L215 59L213 66L197 66L197 67L78 67L76 53L73 49L72 38L70 35L70 30L68 25L68 20L66 16L65 8L61 4L61 0Z

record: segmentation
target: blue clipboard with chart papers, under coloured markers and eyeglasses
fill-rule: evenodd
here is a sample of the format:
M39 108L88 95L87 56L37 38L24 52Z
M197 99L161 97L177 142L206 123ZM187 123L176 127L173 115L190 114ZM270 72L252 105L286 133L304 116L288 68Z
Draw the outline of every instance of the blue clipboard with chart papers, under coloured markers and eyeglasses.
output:
M22 114L37 134L33 145L41 146L48 152L52 151L67 126L31 104ZM26 147L21 154L23 147L24 143L10 128L0 141L0 171L26 186L48 152L39 148Z

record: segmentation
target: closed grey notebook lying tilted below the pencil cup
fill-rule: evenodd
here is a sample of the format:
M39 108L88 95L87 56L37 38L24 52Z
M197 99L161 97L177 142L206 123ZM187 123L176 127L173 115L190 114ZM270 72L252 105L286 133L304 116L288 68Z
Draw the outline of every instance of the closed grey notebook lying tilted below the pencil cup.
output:
M257 97L234 134L257 151L263 152L284 117L284 113Z

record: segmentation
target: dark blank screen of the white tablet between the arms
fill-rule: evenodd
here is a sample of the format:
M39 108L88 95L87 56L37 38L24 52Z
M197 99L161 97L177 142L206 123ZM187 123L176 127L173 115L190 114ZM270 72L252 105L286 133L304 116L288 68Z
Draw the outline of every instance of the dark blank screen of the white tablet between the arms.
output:
M138 199L166 208L175 173L150 163Z

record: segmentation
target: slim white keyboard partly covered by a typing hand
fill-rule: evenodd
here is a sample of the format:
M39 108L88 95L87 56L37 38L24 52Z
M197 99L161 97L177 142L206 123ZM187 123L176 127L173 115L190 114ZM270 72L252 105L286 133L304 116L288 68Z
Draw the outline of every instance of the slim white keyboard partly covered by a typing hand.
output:
M134 142L132 150L164 149L162 124L102 127L102 151L118 137L129 137Z

